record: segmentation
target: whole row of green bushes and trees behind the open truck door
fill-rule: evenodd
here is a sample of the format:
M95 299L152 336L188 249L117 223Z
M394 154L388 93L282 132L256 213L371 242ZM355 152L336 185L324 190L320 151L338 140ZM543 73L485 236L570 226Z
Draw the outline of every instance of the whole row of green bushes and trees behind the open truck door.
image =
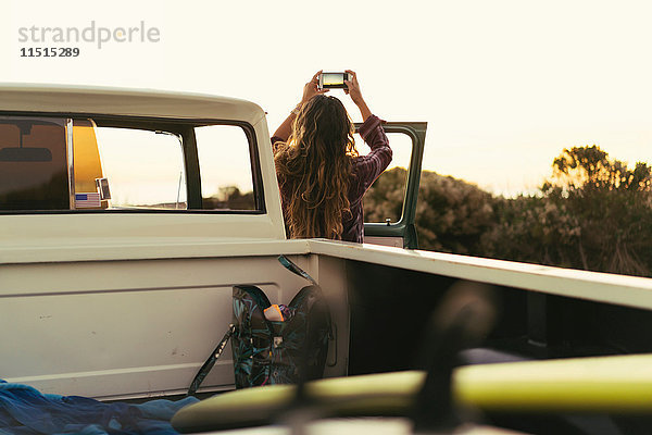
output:
M367 216L400 216L404 177L383 175ZM536 196L509 199L424 171L416 225L422 249L651 276L652 167L628 169L597 146L564 149Z

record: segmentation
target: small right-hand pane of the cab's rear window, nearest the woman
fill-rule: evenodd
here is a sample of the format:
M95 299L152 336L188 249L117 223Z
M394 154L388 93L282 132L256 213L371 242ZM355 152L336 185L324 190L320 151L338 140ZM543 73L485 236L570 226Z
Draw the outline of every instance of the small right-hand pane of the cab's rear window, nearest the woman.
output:
M202 208L255 210L249 139L241 127L206 125L195 128Z

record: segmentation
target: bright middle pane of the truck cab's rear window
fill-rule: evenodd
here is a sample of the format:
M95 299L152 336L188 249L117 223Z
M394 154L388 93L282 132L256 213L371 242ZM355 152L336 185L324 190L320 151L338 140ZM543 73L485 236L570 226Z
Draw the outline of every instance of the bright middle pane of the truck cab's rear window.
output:
M187 208L184 152L178 136L114 127L96 127L96 134L111 196L109 209ZM80 164L75 162L75 166ZM75 186L80 182L76 179ZM90 186L90 179L88 183Z

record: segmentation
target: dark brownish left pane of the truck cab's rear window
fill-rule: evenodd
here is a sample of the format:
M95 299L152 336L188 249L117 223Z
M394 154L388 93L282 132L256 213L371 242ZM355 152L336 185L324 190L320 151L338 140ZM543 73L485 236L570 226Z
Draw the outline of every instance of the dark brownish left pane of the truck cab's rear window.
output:
M0 210L67 210L65 120L0 116Z

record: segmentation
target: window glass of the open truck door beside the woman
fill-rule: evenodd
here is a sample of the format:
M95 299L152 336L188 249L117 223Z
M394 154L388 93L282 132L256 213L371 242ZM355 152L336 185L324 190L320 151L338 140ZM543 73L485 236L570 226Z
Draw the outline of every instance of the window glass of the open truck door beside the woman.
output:
M388 133L387 137L392 150L391 163L364 196L365 222L385 223L389 219L396 223L402 216L408 169L412 157L412 138L402 133ZM358 134L355 146L361 156L371 151Z

